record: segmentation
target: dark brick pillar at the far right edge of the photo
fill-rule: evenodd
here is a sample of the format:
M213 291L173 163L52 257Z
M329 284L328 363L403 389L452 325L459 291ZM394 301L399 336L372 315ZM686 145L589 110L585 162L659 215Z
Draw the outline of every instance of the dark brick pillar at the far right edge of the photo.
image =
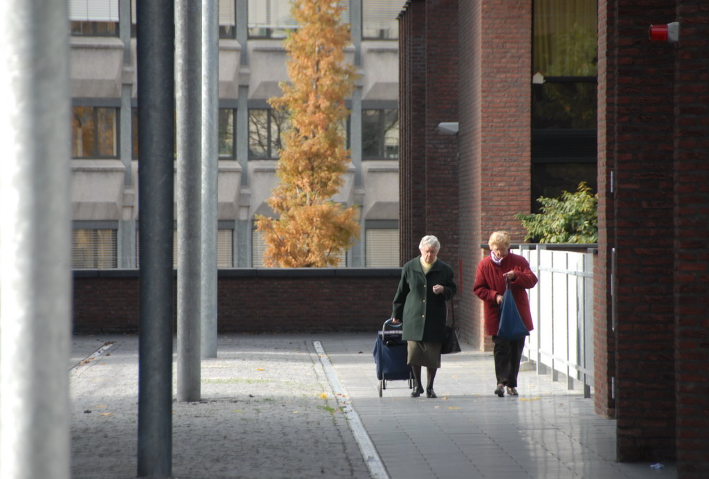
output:
M681 478L709 471L709 3L677 2L674 346ZM660 23L660 22L657 22ZM664 23L664 22L662 22ZM662 45L674 50L672 45Z

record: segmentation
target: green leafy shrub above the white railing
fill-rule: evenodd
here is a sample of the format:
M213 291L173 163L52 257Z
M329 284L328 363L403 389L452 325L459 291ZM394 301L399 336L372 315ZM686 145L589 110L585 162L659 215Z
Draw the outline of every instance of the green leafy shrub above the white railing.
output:
M597 243L598 194L581 182L576 193L562 192L559 198L540 196L541 213L515 214L527 230L525 241L532 243Z

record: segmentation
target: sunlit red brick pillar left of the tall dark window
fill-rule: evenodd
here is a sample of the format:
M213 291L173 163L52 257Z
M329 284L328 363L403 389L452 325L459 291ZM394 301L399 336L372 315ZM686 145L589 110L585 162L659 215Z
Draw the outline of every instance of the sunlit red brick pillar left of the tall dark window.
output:
M532 1L459 2L459 225L464 337L489 347L472 293L479 244L494 230L520 242L531 206Z

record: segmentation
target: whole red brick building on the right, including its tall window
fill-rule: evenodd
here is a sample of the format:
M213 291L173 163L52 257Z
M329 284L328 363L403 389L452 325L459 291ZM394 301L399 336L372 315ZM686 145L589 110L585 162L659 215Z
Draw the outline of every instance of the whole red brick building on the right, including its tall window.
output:
M617 421L618 461L676 461L679 477L705 477L708 4L410 0L400 18L401 61L415 64L401 67L401 83L457 89L457 102L444 102L457 103L445 120L457 123L457 159L447 161L415 154L445 141L435 120L420 120L438 96L402 96L400 181L428 193L436 186L417 172L443 169L458 180L445 200L428 195L423 206L402 193L401 210L418 212L421 232L447 205L457 208L446 232L457 236L457 254L446 259L458 266L465 339L489 347L471 291L489 233L508 230L523 242L513 213L532 211L542 192L587 181L598 192L596 411ZM671 22L679 41L649 39L649 26ZM415 236L402 235L402 251Z

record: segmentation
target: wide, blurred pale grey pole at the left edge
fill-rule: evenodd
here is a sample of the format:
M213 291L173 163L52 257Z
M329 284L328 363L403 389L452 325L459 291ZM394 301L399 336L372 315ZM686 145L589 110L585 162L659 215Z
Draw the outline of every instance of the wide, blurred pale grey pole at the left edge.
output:
M66 2L0 2L0 477L69 478Z

